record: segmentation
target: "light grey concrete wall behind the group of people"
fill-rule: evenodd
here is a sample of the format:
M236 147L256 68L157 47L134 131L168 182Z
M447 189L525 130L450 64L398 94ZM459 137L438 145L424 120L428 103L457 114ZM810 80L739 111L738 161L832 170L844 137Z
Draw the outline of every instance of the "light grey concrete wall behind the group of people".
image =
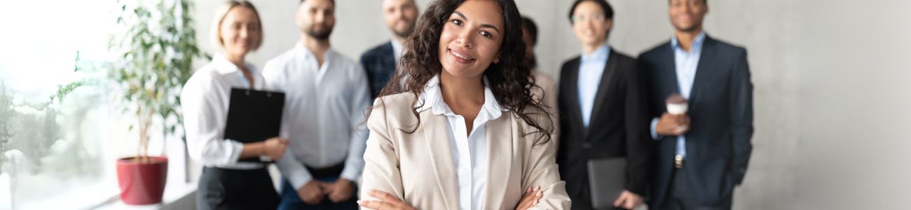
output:
M211 16L221 2L199 1L194 13L200 43L209 53ZM293 22L299 1L251 2L260 9L266 36L248 59L262 66L299 39ZM389 39L380 0L336 2L334 49L356 60ZM430 1L417 2L423 12ZM616 11L609 38L615 50L637 56L670 39L667 0L609 2ZM537 22L539 69L549 75L558 75L562 62L580 51L568 24L571 4L517 0L520 11ZM755 86L754 147L734 209L908 208L898 202L911 194L898 189L911 187L902 178L911 177L911 170L895 165L908 165L903 154L911 148L902 132L911 130L903 120L911 111L902 109L911 105L906 96L911 65L902 62L911 57L906 11L911 2L712 0L709 5L706 32L747 48Z

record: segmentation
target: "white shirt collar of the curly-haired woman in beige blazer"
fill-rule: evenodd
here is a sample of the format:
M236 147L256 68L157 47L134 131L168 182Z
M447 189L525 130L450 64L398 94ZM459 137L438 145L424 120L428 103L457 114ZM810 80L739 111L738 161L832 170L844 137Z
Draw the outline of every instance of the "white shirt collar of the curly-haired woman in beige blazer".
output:
M445 71L445 70L444 70ZM476 120L480 119L480 122L486 122L499 118L503 112L508 111L500 106L499 102L496 102L494 97L494 92L490 91L490 88L487 87L490 84L487 83L487 77L484 77L484 105L481 105L481 112L478 113ZM427 81L427 85L424 88L424 94L420 95L420 101L424 105L421 106L417 111L422 112L424 110L430 109L434 115L455 115L449 105L443 101L443 94L440 90L440 76L435 75L430 81Z

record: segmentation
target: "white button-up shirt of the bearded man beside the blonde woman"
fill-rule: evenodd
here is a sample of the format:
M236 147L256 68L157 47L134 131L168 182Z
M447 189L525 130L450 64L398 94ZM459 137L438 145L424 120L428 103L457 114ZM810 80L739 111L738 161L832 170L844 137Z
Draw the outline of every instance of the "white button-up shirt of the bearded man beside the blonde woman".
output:
M313 178L306 166L344 162L340 177L348 180L357 180L363 170L364 112L371 105L367 76L361 65L332 49L323 56L321 66L298 42L262 68L267 89L285 93L281 136L291 144L278 166L295 189Z

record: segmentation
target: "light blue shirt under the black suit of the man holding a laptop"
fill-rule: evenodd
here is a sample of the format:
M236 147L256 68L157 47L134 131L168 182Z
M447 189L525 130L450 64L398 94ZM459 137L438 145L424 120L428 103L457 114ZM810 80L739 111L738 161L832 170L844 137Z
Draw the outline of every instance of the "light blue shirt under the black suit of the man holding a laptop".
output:
M591 108L595 105L595 95L598 95L598 86L601 84L601 75L604 75L604 65L608 64L610 46L605 43L598 47L591 55L582 52L578 64L578 106L582 111L582 125L589 127Z

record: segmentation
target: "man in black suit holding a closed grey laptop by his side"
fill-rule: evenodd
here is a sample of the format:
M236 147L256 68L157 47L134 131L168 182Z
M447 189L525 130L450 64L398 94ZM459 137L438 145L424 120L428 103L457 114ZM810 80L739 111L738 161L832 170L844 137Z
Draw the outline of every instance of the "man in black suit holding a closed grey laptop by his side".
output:
M592 209L588 161L626 157L626 190L618 208L642 204L650 177L650 137L644 85L635 59L607 44L613 10L604 0L578 0L569 11L582 55L563 64L557 163L572 209Z

